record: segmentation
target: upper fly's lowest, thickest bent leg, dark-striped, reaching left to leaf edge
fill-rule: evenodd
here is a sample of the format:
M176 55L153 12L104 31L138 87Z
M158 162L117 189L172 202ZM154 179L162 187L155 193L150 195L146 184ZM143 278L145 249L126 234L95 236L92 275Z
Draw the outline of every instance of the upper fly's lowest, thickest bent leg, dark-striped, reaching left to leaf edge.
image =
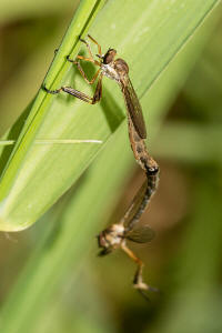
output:
M102 97L102 75L100 75L100 78L98 80L98 84L97 84L93 97L89 97L88 94L85 94L79 90L75 90L71 87L64 87L64 85L57 90L49 90L44 87L44 90L48 93L52 93L52 94L57 94L57 93L60 93L61 91L63 91L63 92L69 93L87 103L95 104L101 100L101 97Z

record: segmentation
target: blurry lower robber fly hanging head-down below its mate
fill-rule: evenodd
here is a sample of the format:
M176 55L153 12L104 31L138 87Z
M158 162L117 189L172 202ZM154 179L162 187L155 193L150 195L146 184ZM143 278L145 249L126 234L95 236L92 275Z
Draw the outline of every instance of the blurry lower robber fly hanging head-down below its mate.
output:
M98 235L99 248L102 248L99 255L103 256L115 249L121 249L135 262L138 269L134 274L133 286L145 297L147 294L143 291L158 290L143 282L143 262L128 248L127 240L135 243L148 243L155 235L154 231L148 224L140 225L138 223L150 200L151 189L154 190L155 188L155 179L151 180L151 182L152 184L148 184L148 181L143 183L120 223L112 224Z

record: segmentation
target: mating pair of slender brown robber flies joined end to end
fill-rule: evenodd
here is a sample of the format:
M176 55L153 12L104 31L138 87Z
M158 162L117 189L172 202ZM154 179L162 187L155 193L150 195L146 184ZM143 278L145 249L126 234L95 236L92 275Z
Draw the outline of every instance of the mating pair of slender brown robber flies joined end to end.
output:
M120 85L128 111L127 115L131 148L135 161L145 172L145 181L135 194L121 221L103 230L98 236L98 243L99 248L102 249L100 255L109 254L115 249L122 249L137 263L138 268L133 280L133 286L147 296L145 291L155 291L155 289L143 282L143 263L127 246L127 240L137 243L147 243L154 238L154 231L149 225L140 225L138 222L158 186L159 165L147 150L144 141L147 139L145 123L139 99L129 78L129 67L127 62L123 59L115 59L117 51L114 49L109 49L105 54L102 54L100 44L91 36L88 34L88 37L98 47L98 60L94 60L90 44L82 39L81 41L88 48L89 57L78 56L75 60L71 60L68 56L67 60L78 67L81 75L89 84L92 84L98 79L93 97L89 97L71 87L61 87L57 90L49 90L44 87L44 90L52 94L63 91L87 103L95 104L102 97L103 77L114 80ZM80 64L81 60L92 62L99 67L91 80L85 75Z

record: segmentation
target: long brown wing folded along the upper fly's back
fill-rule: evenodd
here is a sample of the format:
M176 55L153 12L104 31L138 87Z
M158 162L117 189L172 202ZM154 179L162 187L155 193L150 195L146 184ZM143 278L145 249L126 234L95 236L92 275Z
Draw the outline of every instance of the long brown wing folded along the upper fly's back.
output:
M125 105L130 117L132 119L133 125L141 139L147 138L145 122L142 114L142 108L140 105L137 93L132 87L130 78L124 78L124 83L122 83L122 92L124 95Z

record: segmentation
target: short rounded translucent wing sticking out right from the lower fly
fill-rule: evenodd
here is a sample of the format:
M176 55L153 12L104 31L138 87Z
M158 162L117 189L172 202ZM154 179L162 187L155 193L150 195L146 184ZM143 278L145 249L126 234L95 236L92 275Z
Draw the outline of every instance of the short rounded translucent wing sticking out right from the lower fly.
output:
M149 225L137 225L125 234L125 238L135 243L148 243L155 236Z

